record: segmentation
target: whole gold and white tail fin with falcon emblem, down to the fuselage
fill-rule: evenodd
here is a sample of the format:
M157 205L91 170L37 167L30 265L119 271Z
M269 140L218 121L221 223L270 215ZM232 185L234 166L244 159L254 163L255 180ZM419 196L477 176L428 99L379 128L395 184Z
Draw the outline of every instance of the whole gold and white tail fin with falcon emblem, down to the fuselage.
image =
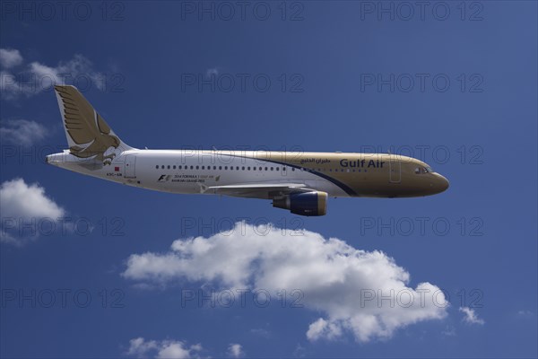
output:
M76 157L95 158L110 164L114 157L133 147L124 143L100 117L76 87L54 86L60 113L64 119L69 151Z

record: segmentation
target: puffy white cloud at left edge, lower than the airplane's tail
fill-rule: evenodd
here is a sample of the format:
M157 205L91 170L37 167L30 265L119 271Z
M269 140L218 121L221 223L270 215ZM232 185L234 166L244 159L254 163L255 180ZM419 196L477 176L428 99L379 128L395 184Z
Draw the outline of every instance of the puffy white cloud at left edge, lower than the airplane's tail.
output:
M22 179L7 180L0 185L0 240L22 244L24 236L39 237L39 220L55 222L65 210L45 195L45 188ZM30 225L29 225L30 224Z

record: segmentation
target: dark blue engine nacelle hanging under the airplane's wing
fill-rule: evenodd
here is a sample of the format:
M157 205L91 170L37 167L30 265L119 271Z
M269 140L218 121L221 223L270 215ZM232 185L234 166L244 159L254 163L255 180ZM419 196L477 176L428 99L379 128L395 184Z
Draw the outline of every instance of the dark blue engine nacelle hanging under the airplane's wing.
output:
M273 199L273 207L289 209L294 215L326 215L327 197L325 192L291 193L282 198Z

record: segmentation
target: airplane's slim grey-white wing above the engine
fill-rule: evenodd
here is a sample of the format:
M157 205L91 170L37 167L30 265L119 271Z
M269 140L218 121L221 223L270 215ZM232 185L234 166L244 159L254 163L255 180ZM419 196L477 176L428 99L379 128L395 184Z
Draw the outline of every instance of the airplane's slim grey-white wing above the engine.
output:
M261 199L273 199L291 193L310 192L314 189L307 188L301 183L248 183L230 186L211 186L202 188L202 192L231 197L249 197Z

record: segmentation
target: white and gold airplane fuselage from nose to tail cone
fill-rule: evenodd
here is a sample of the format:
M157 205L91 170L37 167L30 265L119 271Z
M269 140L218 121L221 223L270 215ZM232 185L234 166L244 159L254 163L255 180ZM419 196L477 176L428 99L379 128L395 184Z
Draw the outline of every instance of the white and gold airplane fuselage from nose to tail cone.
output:
M104 180L178 194L213 194L215 186L280 183L301 184L330 197L421 197L448 188L447 179L427 163L389 153L130 149L103 165L66 150L49 155L47 162Z

